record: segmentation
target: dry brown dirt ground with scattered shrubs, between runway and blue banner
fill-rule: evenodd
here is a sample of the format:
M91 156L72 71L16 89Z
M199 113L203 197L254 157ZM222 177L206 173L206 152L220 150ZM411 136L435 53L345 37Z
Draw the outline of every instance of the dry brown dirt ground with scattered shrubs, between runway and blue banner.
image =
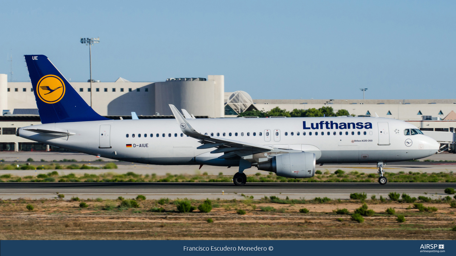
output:
M80 208L83 201L87 208ZM372 217L363 223L333 210L359 208L359 200L332 200L327 203L275 204L268 200L213 200L209 213L195 210L178 213L170 201L139 201L139 208L119 208L119 200L2 200L0 201L0 240L195 240L195 239L376 239L376 240L455 240L456 209L448 203L423 203L438 208L435 213L419 212L413 204L366 200ZM198 206L202 200L191 200ZM34 210L27 210L31 204ZM412 209L406 209L412 205ZM275 211L260 208L272 206ZM166 212L151 212L163 207ZM405 216L387 215L387 208ZM254 209L255 208L255 209ZM307 208L309 213L300 213ZM103 210L108 209L108 210ZM109 210L110 209L110 210ZM246 210L238 215L237 209ZM211 218L212 223L207 219Z

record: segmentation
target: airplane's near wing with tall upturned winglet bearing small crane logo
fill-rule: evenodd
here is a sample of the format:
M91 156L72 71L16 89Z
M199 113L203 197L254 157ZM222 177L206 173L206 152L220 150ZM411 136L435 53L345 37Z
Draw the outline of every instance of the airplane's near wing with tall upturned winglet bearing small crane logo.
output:
M213 150L211 153L224 153L219 158L231 158L236 155L242 157L250 154L258 154L274 150L273 147L265 145L241 142L220 137L212 137L198 133L190 125L190 123L187 122L187 120L182 116L182 114L179 112L179 110L177 110L177 108L174 105L170 104L169 106L171 108L172 113L174 114L174 117L176 118L177 123L179 123L181 127L182 133L192 138L199 139L199 143L202 143L202 145L199 146L197 149L217 148Z

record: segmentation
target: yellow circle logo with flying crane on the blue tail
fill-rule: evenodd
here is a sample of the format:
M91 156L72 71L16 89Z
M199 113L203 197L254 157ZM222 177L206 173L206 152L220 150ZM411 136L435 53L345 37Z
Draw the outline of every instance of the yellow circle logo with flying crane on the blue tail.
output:
M65 83L54 75L41 77L36 86L36 94L43 102L56 103L65 95Z

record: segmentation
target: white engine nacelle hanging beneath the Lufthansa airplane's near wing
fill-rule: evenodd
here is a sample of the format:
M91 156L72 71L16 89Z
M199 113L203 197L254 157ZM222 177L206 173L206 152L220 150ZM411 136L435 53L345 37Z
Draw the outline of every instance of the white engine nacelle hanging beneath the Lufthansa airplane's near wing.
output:
M268 161L259 162L258 169L276 173L286 178L309 178L315 175L315 154L299 152L273 156Z

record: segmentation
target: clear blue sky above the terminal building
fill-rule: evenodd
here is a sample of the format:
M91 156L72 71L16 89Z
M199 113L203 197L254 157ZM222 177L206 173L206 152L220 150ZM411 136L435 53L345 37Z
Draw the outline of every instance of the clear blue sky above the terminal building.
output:
M456 98L454 1L2 1L0 73L44 54L72 81L225 75L256 99Z

